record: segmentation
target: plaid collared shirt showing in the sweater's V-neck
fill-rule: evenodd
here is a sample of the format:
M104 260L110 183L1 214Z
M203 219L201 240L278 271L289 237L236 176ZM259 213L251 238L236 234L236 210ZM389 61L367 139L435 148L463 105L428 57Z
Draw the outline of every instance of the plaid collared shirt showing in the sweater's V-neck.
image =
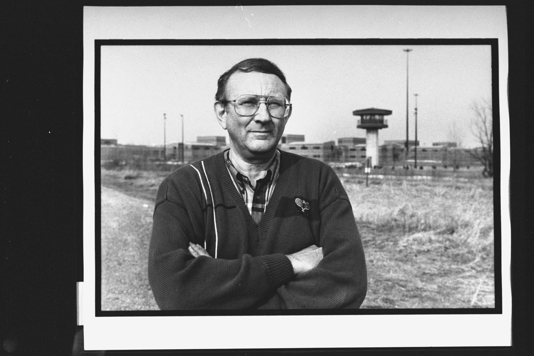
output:
M265 207L269 203L269 199L276 186L278 179L278 162L280 162L280 152L276 150L276 155L272 160L271 165L265 173L265 177L256 180L254 186L250 179L242 175L230 160L230 150L224 152L224 158L226 162L226 168L230 172L235 188L241 193L241 197L247 204L248 212L254 219L256 224L260 224L260 221L265 212Z

